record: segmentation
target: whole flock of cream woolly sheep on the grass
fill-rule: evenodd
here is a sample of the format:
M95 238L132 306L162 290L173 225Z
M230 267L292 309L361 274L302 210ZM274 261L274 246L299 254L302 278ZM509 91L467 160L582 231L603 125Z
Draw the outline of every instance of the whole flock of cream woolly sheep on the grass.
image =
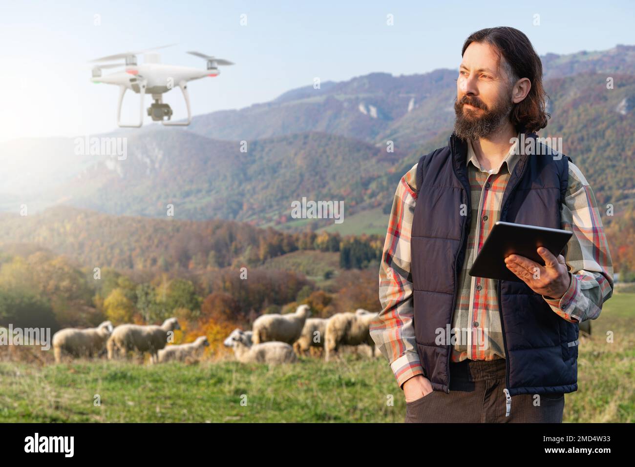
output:
M370 346L370 321L375 313L359 308L355 313L336 313L328 319L309 318L308 305L298 306L295 313L267 314L253 322L252 331L234 329L224 345L234 350L243 363L284 364L298 361L311 348L323 348L328 361L344 346ZM166 319L161 326L121 324L113 329L110 321L89 329L67 328L53 335L55 361L63 354L73 357L95 357L107 351L109 360L128 352L150 353L150 362L187 362L196 359L209 346L205 336L182 345L166 345L168 336L181 329L176 318Z

